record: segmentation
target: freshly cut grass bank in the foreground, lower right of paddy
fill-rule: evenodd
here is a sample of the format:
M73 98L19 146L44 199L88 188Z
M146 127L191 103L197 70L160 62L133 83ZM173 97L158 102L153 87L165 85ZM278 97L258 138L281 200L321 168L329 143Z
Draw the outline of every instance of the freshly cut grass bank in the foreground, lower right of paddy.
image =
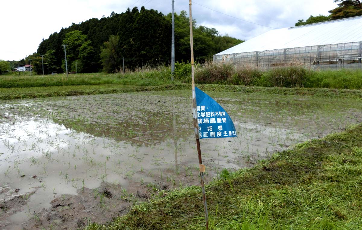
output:
M275 153L206 187L210 228L361 229L362 124ZM205 229L201 189L172 191L95 229Z

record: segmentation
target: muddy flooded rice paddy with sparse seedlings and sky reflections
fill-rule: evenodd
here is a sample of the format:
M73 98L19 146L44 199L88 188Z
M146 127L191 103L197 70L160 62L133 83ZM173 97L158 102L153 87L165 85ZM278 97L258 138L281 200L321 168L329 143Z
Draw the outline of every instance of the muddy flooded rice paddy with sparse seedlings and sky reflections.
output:
M361 99L206 92L238 137L202 139L206 180L362 121ZM75 229L199 184L189 90L0 102L0 228Z

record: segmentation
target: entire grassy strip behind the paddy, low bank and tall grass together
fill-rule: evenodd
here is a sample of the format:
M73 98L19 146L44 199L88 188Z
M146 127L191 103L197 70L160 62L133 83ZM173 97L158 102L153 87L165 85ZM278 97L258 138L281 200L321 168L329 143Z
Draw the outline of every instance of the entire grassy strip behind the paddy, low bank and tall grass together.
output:
M30 77L29 73L21 73L21 76L9 73L0 76L0 99L189 89L190 65L176 67L174 82L167 67L143 68L125 74L70 74L68 78L65 74ZM362 89L361 70L312 71L294 66L261 71L207 64L197 66L195 77L197 84L222 84L201 86L209 90L328 97L361 97L362 94L359 91Z

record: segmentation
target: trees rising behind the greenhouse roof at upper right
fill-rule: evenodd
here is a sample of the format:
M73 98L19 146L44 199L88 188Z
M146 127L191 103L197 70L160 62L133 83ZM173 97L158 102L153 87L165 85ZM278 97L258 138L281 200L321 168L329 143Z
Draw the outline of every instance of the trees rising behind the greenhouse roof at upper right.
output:
M318 15L310 16L306 21L304 19L298 20L295 26L302 26L317 22L325 22L330 20L337 20L342 18L356 17L362 15L362 1L361 0L333 0L333 2L338 3L337 7L329 10L330 13L327 16Z

